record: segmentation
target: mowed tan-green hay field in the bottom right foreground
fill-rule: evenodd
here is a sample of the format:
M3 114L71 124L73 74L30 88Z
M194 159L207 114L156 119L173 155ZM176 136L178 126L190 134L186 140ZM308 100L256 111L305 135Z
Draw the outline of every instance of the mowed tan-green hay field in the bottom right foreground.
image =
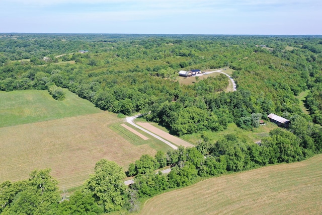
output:
M211 178L148 200L140 214L320 214L322 155Z

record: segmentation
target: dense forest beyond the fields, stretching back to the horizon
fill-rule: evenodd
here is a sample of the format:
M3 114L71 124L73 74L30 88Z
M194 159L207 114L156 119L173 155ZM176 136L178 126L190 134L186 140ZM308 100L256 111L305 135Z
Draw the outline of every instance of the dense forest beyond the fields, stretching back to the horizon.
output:
M13 35L0 38L0 55L26 53L28 61L0 63L0 90L51 90L60 98L67 88L103 110L147 120L176 135L220 131L229 122L252 129L255 115L300 115L321 123L318 83L320 38L201 35ZM83 39L82 39L83 38ZM263 47L262 47L263 46ZM313 50L312 47L315 47ZM30 48L30 49L29 49ZM20 50L23 49L23 50ZM46 49L38 54L35 51ZM65 49L65 50L64 50ZM87 49L88 53L78 53ZM60 57L60 54L72 52ZM8 55L9 54L9 55ZM47 56L48 62L43 60ZM73 60L75 64L55 64ZM45 66L35 66L46 64ZM221 75L184 86L181 69L233 68L238 90L223 93L229 80ZM59 90L58 90L59 89ZM296 95L311 89L302 113ZM221 93L219 93L221 92ZM63 96L62 96L63 97ZM255 114L255 115L254 115Z

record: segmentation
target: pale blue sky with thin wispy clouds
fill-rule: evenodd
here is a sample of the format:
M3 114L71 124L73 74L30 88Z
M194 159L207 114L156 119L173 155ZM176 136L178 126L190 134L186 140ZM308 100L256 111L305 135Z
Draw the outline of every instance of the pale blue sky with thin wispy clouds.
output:
M321 35L321 0L0 0L3 33Z

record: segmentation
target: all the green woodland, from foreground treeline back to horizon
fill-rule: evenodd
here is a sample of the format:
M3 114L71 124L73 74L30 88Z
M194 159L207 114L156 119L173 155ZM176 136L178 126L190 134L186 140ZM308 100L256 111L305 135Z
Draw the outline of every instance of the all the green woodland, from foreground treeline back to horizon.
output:
M155 158L143 155L127 172L135 176L129 188L120 185L124 170L101 160L69 201L60 201L49 170L35 171L28 181L1 184L0 212L137 210L141 197L190 185L200 177L321 153L321 65L322 37L316 36L3 34L2 91L48 90L54 99L63 100L62 88L67 88L103 110L148 113L146 120L179 136L221 131L231 122L252 130L270 113L289 119L291 125L272 130L261 144L226 135L215 142L204 138L196 148L158 152ZM179 70L223 67L234 70L237 91L224 92L229 81L224 75L193 85L178 82ZM303 113L296 98L305 90L309 114ZM166 165L172 166L171 173L154 174Z

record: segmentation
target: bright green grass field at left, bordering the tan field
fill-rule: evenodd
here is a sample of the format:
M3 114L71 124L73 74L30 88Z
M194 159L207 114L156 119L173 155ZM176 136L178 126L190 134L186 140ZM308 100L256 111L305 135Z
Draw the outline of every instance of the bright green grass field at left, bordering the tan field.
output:
M0 92L0 127L102 112L91 102L64 90L64 101L54 100L47 91Z

